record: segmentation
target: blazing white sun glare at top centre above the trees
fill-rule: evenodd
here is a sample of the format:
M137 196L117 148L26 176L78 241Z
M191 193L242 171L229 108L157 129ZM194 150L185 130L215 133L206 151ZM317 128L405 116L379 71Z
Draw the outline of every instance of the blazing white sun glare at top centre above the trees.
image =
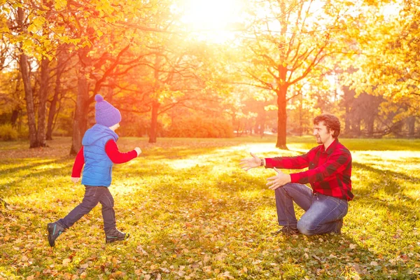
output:
M241 0L184 0L181 21L201 40L223 43L241 21Z

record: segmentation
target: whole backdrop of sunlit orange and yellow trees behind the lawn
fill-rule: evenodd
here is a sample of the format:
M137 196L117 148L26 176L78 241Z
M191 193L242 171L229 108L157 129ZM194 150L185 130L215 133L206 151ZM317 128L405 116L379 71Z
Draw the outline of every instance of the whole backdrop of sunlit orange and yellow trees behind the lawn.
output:
M70 134L75 153L100 93L151 143L234 130L274 132L286 148L322 112L347 137L416 138L416 5L3 0L0 120L30 147ZM181 124L190 116L231 132Z

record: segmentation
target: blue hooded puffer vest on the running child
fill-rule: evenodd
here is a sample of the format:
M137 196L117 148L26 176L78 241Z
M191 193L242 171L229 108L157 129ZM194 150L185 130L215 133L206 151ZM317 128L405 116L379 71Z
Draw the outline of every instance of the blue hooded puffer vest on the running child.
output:
M117 141L118 135L104 125L94 125L83 136L83 169L82 184L87 186L109 187L112 180L113 163L105 152L106 142Z

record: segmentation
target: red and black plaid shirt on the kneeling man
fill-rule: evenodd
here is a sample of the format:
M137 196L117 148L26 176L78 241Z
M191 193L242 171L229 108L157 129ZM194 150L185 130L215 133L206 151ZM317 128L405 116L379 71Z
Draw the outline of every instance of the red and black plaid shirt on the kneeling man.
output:
M265 168L303 169L307 171L290 174L292 183L310 183L314 193L321 193L342 200L352 200L351 154L338 139L328 146L312 148L296 157L266 158Z

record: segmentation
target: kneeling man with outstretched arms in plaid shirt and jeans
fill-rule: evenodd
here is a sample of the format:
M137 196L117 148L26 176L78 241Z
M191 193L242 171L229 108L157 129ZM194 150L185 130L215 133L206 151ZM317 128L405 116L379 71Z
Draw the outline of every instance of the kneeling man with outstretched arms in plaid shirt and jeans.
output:
M337 137L340 123L337 117L324 113L314 119L316 143L304 155L296 157L252 158L241 160L241 168L274 168L276 176L267 179L269 189L275 190L279 225L283 228L277 235L322 235L328 232L341 233L343 217L347 214L347 202L351 193L351 154L339 143ZM307 171L285 174L278 170L303 169ZM311 184L311 188L303 185ZM293 202L304 209L299 221L295 216Z

